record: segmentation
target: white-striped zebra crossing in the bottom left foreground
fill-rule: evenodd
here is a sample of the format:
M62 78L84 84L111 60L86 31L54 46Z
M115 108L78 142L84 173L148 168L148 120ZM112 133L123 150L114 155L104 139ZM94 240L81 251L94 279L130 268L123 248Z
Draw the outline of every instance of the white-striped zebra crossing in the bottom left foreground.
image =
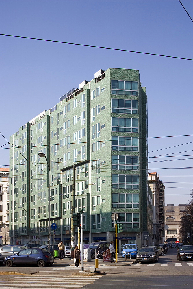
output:
M1 289L79 289L92 284L99 277L95 276L21 276L1 280Z

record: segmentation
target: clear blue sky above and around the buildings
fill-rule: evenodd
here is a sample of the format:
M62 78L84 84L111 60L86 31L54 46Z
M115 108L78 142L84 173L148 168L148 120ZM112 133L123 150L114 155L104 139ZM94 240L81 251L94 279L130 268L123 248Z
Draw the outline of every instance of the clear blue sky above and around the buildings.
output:
M193 17L193 1L181 1ZM2 34L193 58L193 23L178 0L1 0L0 27ZM147 89L149 137L193 134L192 61L8 36L0 36L0 47L0 131L7 139L109 67L139 69ZM188 142L193 136L150 138L149 152ZM5 143L0 136L0 146ZM175 153L149 158L169 160L149 163L166 186L166 204L189 200L193 169L177 168L193 162L176 159L193 158L192 149L190 143L149 153ZM0 165L8 164L8 149L0 150Z

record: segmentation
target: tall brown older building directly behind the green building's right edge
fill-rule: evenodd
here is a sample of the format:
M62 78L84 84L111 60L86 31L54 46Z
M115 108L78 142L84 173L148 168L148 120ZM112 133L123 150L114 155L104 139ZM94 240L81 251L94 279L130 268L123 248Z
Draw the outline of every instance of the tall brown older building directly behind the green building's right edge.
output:
M164 232L164 190L165 186L159 180L157 173L149 174L149 186L153 201L153 236L152 244L157 245L165 241Z

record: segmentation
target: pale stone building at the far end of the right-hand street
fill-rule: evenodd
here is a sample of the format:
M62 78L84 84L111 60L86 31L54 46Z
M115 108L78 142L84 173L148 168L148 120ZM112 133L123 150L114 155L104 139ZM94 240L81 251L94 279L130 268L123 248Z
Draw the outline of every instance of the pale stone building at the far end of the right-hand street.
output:
M180 241L182 242L182 237L180 236L180 221L181 217L185 212L186 204L179 204L175 206L174 204L165 206L165 237L167 241Z

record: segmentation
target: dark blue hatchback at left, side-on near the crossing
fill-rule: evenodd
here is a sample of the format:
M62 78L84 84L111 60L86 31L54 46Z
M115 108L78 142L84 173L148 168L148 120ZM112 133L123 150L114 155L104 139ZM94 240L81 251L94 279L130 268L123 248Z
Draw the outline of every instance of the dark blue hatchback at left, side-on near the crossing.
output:
M27 248L5 258L5 265L7 267L12 267L13 265L38 265L39 267L45 267L51 266L52 264L52 255L43 248Z

